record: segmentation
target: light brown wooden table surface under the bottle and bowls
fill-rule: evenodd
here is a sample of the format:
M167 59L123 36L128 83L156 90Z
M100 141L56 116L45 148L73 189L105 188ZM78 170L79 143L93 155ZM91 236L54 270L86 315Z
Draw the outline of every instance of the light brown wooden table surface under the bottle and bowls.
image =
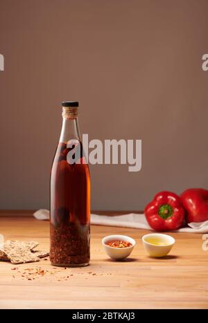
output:
M49 222L29 213L1 213L0 233L5 239L37 240L48 249ZM1 262L0 308L208 308L208 251L202 250L202 234L173 233L170 255L151 259L141 244L146 233L92 225L91 265L84 268L55 269L44 259L18 266ZM130 258L115 262L105 255L101 238L107 234L137 241ZM46 275L28 280L26 269L38 267Z

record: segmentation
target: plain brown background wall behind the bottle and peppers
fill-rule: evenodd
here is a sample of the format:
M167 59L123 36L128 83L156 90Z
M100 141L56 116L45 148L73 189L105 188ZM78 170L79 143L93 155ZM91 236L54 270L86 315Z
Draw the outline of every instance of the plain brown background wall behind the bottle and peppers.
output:
M91 167L92 207L208 188L208 1L0 0L1 209L49 207L62 100L89 138L142 139L142 170Z

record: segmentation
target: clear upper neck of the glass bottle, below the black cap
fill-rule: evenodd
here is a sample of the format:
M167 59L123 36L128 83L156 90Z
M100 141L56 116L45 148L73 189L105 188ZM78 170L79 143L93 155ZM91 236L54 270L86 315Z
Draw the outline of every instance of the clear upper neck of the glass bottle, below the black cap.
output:
M78 109L62 108L62 131L60 134L60 142L68 142L76 139L81 141L80 130L78 125Z

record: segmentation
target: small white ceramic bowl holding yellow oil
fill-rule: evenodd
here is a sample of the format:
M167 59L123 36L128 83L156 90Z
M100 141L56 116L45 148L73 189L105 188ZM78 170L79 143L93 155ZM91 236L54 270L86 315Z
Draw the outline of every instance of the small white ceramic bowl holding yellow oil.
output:
M155 239L159 243L164 243L164 245L150 243L151 239ZM142 242L150 257L164 257L171 251L175 243L175 239L168 234L150 233L142 237Z

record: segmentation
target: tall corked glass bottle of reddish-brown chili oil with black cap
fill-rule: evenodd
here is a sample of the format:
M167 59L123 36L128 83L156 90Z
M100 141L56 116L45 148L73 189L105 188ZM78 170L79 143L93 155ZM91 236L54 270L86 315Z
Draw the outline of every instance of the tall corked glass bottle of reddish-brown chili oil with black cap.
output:
M90 178L78 128L78 102L62 102L62 131L51 169L50 259L89 264Z

